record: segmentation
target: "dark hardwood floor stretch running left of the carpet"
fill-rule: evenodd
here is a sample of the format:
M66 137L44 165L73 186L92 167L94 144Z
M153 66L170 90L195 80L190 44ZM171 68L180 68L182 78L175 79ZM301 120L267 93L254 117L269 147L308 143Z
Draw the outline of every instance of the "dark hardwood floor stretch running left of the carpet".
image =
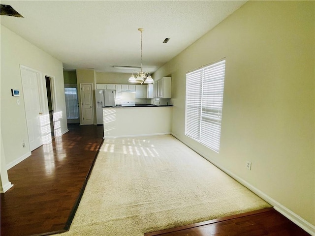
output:
M103 140L103 126L68 129L8 170L14 186L1 194L1 236L48 235L70 226Z

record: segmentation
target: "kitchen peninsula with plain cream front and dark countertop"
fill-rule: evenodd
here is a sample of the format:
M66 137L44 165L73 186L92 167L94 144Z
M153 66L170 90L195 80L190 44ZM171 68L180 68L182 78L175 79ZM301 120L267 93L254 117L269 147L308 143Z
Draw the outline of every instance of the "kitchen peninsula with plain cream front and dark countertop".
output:
M170 134L172 107L170 105L104 107L104 138Z

